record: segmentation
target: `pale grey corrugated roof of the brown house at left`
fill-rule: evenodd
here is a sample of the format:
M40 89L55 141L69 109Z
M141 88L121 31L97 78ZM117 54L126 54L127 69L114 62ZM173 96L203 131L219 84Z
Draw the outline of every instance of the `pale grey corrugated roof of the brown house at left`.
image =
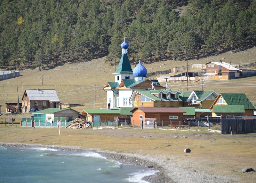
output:
M54 89L26 89L29 100L50 100L60 102Z

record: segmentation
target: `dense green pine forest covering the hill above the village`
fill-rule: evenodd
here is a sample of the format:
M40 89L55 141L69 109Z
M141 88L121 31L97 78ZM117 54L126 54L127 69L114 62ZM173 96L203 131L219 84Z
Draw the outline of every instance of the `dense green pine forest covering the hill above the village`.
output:
M180 6L182 16L174 11ZM3 0L0 66L49 68L105 55L114 61L124 37L131 60L204 57L254 45L255 22L253 0Z

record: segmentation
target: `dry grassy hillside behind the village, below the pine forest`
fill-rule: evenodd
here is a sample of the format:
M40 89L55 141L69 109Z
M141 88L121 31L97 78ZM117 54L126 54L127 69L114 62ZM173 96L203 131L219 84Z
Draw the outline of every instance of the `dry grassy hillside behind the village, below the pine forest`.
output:
M129 56L129 50L128 50ZM121 52L120 52L121 57ZM209 61L219 62L256 62L256 47L241 52L225 52L220 55L205 57L198 60L189 60L188 64L205 64ZM135 63L134 63L135 64ZM162 71L180 67L187 64L187 61L161 61L152 64L142 63L148 72ZM132 65L134 69L135 65ZM117 66L116 66L117 68ZM51 70L26 69L20 71L21 76L9 80L0 81L0 105L1 113L5 112L5 97L8 103L22 100L22 93L25 89L55 89L62 103L85 104L77 108L106 107L107 93L103 90L107 82L114 81L114 66L106 63L104 58L95 59L80 63L66 63ZM197 72L197 71L194 71ZM43 75L43 85L42 85ZM156 78L156 77L155 77ZM165 83L162 83L165 85ZM186 82L169 83L173 90L186 90ZM256 102L256 77L228 80L228 81L204 81L204 90L215 90L218 93L245 93L250 101ZM202 90L201 82L189 82L188 90ZM94 98L94 95L96 96ZM103 103L105 102L105 103Z

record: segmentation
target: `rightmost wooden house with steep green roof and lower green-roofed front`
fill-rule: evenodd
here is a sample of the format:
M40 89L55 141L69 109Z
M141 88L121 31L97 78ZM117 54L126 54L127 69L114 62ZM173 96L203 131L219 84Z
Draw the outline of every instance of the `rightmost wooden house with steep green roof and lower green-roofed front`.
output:
M255 107L245 94L219 94L212 106L212 117L216 116L253 116Z

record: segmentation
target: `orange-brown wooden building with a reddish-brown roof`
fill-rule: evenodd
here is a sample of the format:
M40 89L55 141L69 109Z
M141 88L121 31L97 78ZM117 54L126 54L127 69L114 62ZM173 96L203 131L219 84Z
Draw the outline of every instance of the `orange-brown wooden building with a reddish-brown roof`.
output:
M135 126L141 126L141 120L145 118L155 118L157 124L162 124L164 126L179 125L181 122L183 113L186 111L180 109L179 107L136 107L132 111L132 121L134 121Z

